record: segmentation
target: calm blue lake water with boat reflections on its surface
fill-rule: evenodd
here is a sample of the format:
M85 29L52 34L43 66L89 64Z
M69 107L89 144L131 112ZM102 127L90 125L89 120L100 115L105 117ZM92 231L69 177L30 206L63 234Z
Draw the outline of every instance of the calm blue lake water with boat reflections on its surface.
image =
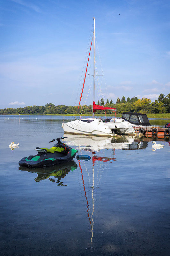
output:
M66 135L92 158L19 167L35 147L52 147L48 141L63 136L62 122L0 115L1 255L169 256L170 142L159 140L164 148L153 151L148 138ZM19 148L11 151L11 141Z

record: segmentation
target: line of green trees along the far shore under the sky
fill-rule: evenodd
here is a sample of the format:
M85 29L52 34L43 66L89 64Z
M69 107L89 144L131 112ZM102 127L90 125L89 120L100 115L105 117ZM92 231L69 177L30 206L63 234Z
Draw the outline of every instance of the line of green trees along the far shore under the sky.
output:
M122 113L123 111L128 112L141 112L141 113L170 113L170 93L165 97L165 94L161 93L158 100L151 103L148 98L138 99L136 96L127 98L122 97L113 103L113 100L107 100L106 103L103 99L97 102L98 105L113 107L117 109L117 113ZM80 114L83 111L84 114L92 113L92 105L89 106L66 106L48 103L45 106L27 106L24 108L4 108L0 109L0 114ZM103 110L97 111L96 113L103 114ZM110 113L110 111L106 111Z

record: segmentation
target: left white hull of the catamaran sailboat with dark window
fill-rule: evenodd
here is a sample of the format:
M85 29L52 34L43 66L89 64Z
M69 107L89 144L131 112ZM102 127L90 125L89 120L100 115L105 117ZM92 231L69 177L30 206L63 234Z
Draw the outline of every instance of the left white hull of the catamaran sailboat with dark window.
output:
M113 132L100 119L89 118L62 124L64 133L112 137Z

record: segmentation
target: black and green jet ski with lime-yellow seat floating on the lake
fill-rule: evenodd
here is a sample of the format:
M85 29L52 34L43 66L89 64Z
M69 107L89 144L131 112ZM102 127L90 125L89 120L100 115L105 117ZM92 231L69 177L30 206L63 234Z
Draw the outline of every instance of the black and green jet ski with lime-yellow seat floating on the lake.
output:
M47 167L55 164L63 164L71 161L78 152L74 148L68 147L66 144L62 143L60 139L65 139L67 137L61 137L53 139L50 142L58 141L52 148L35 148L38 152L37 155L23 157L18 164L20 166L32 167Z

